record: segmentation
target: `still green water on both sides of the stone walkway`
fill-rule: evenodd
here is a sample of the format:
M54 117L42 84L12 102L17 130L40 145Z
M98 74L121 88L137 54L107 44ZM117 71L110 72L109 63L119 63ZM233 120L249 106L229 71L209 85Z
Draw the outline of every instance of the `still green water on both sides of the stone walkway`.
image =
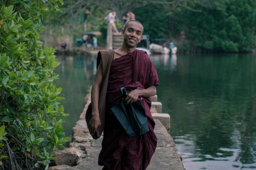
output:
M57 87L65 100L64 131L83 111L96 72L93 57L57 56ZM256 169L256 56L152 55L158 101L171 118L170 134L186 170Z

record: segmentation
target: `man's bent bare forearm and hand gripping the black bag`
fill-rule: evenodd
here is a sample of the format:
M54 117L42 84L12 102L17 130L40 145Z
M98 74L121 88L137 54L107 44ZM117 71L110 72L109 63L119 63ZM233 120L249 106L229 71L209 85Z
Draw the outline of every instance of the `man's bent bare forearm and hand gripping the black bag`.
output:
M134 89L128 93L128 96L125 98L125 104L128 104L129 102L135 102L139 96L142 97L151 97L156 94L156 88L154 85L150 86L146 89Z

